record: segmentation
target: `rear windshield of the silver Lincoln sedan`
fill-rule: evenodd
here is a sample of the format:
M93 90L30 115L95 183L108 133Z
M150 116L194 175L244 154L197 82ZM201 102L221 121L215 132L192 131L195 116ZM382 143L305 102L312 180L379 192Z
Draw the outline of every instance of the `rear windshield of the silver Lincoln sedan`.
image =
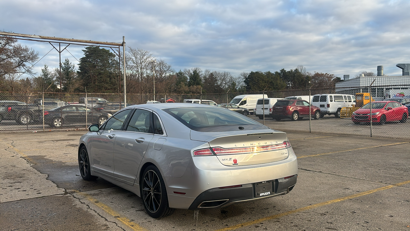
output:
M225 132L268 129L268 127L235 111L220 107L182 107L162 109L183 125L198 132Z

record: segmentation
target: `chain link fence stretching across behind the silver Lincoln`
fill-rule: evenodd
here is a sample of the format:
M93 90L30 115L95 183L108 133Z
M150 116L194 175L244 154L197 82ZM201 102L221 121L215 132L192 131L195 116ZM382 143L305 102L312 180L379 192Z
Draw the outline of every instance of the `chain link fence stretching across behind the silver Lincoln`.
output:
M391 88L392 89L392 88ZM382 100L386 98L385 91L382 93L370 89L374 100ZM392 91L392 90L390 90ZM401 98L405 98L405 89ZM410 90L408 90L410 91ZM232 99L241 99L238 102L239 107L247 110L238 111L235 106L228 108L231 110L243 113L249 118L252 118L272 129L280 131L296 131L296 132L315 132L324 134L343 134L357 136L373 136L385 137L394 139L410 139L407 136L407 131L410 129L410 122L403 119L403 115L396 115L396 119L387 117L385 122L378 120L365 120L355 122L351 119L351 114L340 118L340 112L326 112L329 104L335 103L337 98L335 94L351 95L351 98L342 98L346 101L344 105L352 107L356 93L369 92L369 88L359 89L340 89L336 92L335 89L302 89L302 90L282 90L282 91L266 91L266 92L227 92L214 94L127 94L127 105L145 104L147 101L157 101L166 103L181 103L185 99L202 99L215 102L215 104L229 104ZM326 95L328 102L312 102L314 95ZM240 97L240 95L242 95ZM262 105L258 105L262 111L256 111L257 100L253 100L253 95L260 95L260 98L285 98L298 96L305 100L305 105L299 106L298 115L295 118L294 113L285 113L287 106L292 105L277 105L270 104L269 101L263 101ZM309 105L309 95L312 105L317 105L320 114L317 114L317 108ZM331 98L330 98L331 96ZM390 97L391 95L387 95ZM401 96L401 95L400 95ZM235 98L237 97L237 98ZM396 95L395 95L396 97ZM258 97L259 98L259 97ZM349 102L349 99L351 101ZM339 100L339 99L338 99ZM245 103L244 103L245 101ZM299 104L297 99L289 102ZM324 100L323 100L324 101ZM340 100L339 100L340 101ZM265 105L266 102L266 105ZM280 101L282 102L282 101ZM287 102L286 104L288 104ZM403 103L406 104L406 103ZM302 106L305 111L301 111ZM399 105L395 105L399 107ZM401 106L401 104L400 104ZM408 105L410 106L410 99ZM112 114L124 107L124 95L122 94L102 94L102 93L77 93L77 92L0 92L0 132L36 132L49 131L53 129L87 129L91 124L103 123ZM225 106L227 107L227 106ZM280 109L282 108L282 109ZM353 108L356 110L357 108ZM395 107L392 107L394 111ZM377 109L373 109L376 110ZM246 112L245 112L246 111ZM292 112L292 111L291 111ZM353 110L352 110L353 112ZM275 114L276 113L276 114ZM403 111L399 112L403 113ZM405 111L407 119L407 111ZM362 113L365 114L365 113ZM397 112L396 112L397 114ZM364 115L362 115L364 116ZM343 116L342 116L343 117ZM366 117L366 116L364 116ZM369 116L367 116L368 118ZM394 120L394 121L389 121ZM369 120L370 121L370 120Z

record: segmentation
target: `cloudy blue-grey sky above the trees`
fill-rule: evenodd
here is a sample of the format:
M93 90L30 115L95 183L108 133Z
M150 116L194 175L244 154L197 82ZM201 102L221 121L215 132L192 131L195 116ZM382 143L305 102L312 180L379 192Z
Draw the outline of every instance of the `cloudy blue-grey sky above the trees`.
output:
M410 63L408 0L0 0L0 30L28 35L125 42L175 70L308 72L351 78L362 71L401 75ZM39 51L52 46L21 40ZM84 47L62 60L77 63ZM75 60L77 59L77 60ZM37 65L58 66L51 51Z

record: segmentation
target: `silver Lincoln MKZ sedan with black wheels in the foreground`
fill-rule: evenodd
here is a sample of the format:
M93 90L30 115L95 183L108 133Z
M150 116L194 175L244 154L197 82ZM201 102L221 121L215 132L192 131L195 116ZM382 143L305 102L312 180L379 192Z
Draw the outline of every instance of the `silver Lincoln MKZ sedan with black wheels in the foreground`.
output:
M134 192L154 218L287 194L298 163L285 132L204 104L128 106L80 138L84 180Z

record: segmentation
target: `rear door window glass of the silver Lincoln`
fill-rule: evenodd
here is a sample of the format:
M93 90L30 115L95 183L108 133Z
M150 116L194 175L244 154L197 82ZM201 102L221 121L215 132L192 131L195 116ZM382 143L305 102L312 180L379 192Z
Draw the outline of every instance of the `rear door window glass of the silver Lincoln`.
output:
M127 126L127 131L130 132L144 132L144 133L154 133L152 125L152 112L136 109L134 115L132 115L130 122Z

